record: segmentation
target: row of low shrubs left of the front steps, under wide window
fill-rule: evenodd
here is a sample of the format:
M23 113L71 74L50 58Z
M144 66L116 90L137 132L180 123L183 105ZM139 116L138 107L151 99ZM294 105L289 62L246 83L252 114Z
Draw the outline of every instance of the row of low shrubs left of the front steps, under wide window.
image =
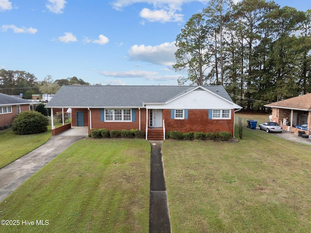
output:
M108 130L106 128L92 128L91 138L145 138L145 132L139 129Z

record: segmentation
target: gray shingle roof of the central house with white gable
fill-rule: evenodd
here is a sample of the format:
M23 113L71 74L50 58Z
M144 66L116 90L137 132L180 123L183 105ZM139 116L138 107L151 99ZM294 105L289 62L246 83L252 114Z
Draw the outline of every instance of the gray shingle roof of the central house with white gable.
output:
M143 103L165 103L196 86L62 86L46 107L142 107ZM223 86L207 90L232 102Z

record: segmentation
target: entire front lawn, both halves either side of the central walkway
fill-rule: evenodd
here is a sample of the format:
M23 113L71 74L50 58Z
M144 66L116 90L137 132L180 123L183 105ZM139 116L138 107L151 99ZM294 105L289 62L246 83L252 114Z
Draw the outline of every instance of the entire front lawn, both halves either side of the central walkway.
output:
M244 127L162 154L174 233L311 232L311 146ZM81 140L0 203L0 219L49 225L0 232L148 232L149 185L148 141Z

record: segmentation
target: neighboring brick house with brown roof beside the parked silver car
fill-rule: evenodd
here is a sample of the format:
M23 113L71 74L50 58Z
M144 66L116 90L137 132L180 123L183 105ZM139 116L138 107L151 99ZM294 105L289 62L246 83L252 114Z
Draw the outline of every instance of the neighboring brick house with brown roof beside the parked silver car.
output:
M308 124L307 135L311 135L311 93L265 105L272 108L272 121L282 125L286 131L298 134L295 125ZM284 121L285 119L285 121Z

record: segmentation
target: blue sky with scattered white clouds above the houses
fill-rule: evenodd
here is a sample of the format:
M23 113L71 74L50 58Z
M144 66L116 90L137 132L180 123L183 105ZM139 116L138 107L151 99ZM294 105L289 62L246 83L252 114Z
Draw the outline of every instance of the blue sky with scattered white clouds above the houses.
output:
M174 41L208 0L0 0L0 69L38 80L177 85ZM310 0L275 0L306 11Z

